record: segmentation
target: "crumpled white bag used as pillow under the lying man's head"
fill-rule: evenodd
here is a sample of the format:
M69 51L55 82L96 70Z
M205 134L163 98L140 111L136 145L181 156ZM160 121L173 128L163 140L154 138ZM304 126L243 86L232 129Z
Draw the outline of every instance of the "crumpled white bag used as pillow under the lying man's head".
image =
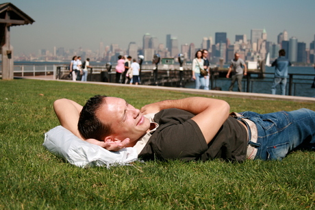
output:
M138 159L136 148L129 147L111 152L101 146L80 140L61 125L45 133L45 142L42 145L54 155L81 168L124 166Z

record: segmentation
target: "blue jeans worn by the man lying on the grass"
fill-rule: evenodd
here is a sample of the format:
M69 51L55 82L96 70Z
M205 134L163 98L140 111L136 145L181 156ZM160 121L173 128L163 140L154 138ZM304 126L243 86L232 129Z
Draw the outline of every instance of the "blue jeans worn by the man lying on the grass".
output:
M257 114L252 111L241 113L255 122L258 132L255 159L279 159L286 157L295 148L315 148L315 111L299 109Z

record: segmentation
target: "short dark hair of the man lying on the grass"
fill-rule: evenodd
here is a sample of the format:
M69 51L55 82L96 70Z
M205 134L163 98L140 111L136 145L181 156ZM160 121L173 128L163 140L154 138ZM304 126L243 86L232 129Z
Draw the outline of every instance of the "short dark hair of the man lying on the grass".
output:
M106 103L107 96L96 95L88 101L82 108L79 116L79 122L77 128L83 137L86 139L96 139L103 141L104 138L112 133L110 124L105 124L97 118L97 111L101 108L101 105Z

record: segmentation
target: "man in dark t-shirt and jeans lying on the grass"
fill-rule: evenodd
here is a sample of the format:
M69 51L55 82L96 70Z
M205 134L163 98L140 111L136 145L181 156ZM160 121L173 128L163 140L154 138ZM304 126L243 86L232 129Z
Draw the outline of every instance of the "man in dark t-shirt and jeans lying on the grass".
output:
M108 150L133 146L144 160L282 159L295 148L315 146L310 109L229 114L225 101L192 97L139 110L124 99L99 95L84 107L68 99L53 105L60 124L81 140Z

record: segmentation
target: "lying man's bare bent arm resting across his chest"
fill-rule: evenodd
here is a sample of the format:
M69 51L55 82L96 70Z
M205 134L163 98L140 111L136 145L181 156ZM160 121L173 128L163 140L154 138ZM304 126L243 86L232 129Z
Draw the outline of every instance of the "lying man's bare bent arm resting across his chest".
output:
M205 142L214 138L229 116L229 104L218 99L191 97L178 100L166 100L145 105L140 109L143 114L156 113L162 109L177 108L195 114L192 118L205 137Z

